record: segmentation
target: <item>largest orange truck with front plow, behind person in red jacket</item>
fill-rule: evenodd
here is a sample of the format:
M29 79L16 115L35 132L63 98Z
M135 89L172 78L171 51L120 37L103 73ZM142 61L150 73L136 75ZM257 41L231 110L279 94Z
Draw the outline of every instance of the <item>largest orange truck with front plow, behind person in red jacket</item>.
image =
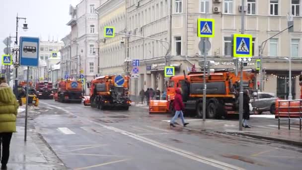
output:
M167 87L166 100L151 100L149 111L174 113L173 100L175 89L181 88L186 111L194 112L202 117L203 107L203 72L190 72L187 76L173 76ZM226 117L228 114L238 114L238 90L240 75L228 70L216 70L206 75L206 116L208 118ZM243 88L254 89L255 75L251 71L243 72ZM153 104L154 103L154 104ZM158 109L158 107L164 109Z

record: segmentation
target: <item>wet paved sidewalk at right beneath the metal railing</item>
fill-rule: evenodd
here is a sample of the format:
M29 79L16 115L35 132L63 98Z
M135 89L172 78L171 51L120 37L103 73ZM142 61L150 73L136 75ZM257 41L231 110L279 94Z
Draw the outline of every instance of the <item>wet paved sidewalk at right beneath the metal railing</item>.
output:
M212 120L208 119L205 122L202 119L186 119L190 124L184 129L190 131L207 131L224 133L228 135L241 135L257 139L265 139L276 142L283 142L291 145L302 146L302 131L299 129L297 121L291 123L291 130L288 130L288 122L281 121L281 128L278 130L278 120L270 119L268 122L263 122L264 119L254 119L248 121L251 128L242 128L239 131L238 120ZM169 120L164 120L168 122ZM261 122L262 121L262 122ZM166 124L165 124L166 126Z

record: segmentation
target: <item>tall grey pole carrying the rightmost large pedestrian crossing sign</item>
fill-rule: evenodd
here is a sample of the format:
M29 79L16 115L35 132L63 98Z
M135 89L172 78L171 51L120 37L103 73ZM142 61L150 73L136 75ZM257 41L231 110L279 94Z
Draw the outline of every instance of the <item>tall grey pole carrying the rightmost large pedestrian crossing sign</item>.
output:
M241 34L244 34L244 0L241 1ZM242 131L243 117L243 63L240 64L240 91L239 91L239 131Z

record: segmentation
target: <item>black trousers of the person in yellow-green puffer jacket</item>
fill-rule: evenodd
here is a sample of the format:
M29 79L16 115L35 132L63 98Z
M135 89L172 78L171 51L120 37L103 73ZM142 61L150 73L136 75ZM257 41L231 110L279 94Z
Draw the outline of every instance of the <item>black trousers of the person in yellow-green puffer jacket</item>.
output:
M11 140L12 133L0 133L0 139L2 143L2 159L1 164L6 165L9 158L9 145ZM0 144L1 144L0 143ZM1 147L0 147L1 149ZM1 150L0 150L1 153Z

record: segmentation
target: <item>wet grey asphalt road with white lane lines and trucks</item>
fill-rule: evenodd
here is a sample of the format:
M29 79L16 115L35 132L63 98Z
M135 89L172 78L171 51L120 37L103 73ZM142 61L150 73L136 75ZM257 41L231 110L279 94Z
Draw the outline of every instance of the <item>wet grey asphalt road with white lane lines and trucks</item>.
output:
M191 132L147 109L101 111L40 100L34 127L74 170L301 170L302 148Z

